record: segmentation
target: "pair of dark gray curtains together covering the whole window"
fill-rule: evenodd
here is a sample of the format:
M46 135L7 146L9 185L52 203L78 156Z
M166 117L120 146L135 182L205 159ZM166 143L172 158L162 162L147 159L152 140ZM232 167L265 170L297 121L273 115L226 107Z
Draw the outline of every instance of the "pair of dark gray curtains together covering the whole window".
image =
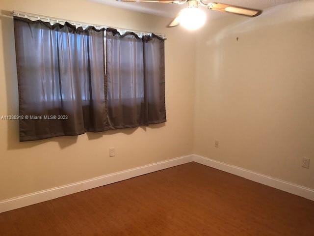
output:
M164 39L14 17L20 141L166 121Z

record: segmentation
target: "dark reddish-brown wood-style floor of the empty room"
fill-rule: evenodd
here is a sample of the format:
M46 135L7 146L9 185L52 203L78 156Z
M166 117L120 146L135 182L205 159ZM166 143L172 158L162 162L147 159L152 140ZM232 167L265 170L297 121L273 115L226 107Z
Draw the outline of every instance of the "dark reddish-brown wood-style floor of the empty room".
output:
M197 163L0 214L1 236L314 236L314 202Z

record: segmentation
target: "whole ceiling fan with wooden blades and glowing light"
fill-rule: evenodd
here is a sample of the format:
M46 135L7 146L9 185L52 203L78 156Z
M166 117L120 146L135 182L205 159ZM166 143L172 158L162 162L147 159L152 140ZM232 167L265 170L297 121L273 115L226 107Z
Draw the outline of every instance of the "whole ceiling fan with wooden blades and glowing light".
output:
M207 2L207 0L117 0L125 2L158 2L158 3L173 3L184 4L187 7L181 10L168 27L176 27L182 25L189 30L199 29L204 26L206 14L199 9L199 6L205 6L209 10L234 13L243 16L255 17L261 15L262 10L246 8L241 6L229 5L218 2Z

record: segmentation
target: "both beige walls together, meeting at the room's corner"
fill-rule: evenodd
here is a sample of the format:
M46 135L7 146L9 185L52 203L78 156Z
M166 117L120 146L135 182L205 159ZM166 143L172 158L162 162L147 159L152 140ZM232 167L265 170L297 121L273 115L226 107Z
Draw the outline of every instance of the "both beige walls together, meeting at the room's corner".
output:
M210 20L196 34L165 28L166 18L84 0L0 0L0 10L0 115L18 112L7 11L168 38L164 125L19 143L18 122L0 120L0 200L191 153L314 188L314 163L301 168L302 156L314 160L313 1L255 19Z

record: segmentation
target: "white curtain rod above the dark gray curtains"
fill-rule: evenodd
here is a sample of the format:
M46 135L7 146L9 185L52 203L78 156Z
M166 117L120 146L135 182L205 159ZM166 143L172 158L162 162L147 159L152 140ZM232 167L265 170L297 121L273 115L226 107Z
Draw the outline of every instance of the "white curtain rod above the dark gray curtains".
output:
M133 29L123 29L123 28L117 28L117 27L110 27L110 26L102 26L102 25L95 25L95 24L90 24L90 23L86 23L86 22L78 22L78 21L71 21L71 20L66 20L66 19L61 19L61 18L56 18L56 17L50 17L50 16L43 16L43 15L37 15L37 14L32 14L32 13L27 13L27 12L22 12L22 11L13 11L12 12L13 16L18 16L18 17L24 17L24 18L28 18L30 20L42 20L45 22L54 22L54 23L65 23L65 22L69 22L70 24L74 25L74 26L93 26L96 29L100 29L100 28L114 28L117 29L120 33L125 33L128 31L134 32L136 34L140 35L151 35L152 32L147 32L147 31L138 31L138 30L133 30ZM35 19L34 19L35 18ZM156 35L158 35L159 37L165 38L166 35L162 34L162 33L154 33Z

